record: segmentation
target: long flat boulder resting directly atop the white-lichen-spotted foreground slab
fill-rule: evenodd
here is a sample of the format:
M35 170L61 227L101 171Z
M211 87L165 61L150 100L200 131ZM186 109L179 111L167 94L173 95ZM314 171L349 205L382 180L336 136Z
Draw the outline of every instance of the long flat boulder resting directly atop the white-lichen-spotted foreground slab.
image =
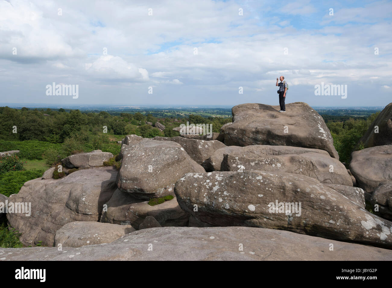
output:
M224 154L222 171L287 172L309 176L321 183L352 186L352 179L346 167L338 159L329 155L309 152L249 158L246 154L242 156L233 152L229 153Z

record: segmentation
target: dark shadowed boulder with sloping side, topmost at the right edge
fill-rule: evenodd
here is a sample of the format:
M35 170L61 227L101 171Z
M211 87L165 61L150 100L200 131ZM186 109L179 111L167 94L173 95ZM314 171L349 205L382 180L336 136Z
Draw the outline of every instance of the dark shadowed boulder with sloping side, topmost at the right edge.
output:
M392 103L385 106L359 142L365 148L392 144Z

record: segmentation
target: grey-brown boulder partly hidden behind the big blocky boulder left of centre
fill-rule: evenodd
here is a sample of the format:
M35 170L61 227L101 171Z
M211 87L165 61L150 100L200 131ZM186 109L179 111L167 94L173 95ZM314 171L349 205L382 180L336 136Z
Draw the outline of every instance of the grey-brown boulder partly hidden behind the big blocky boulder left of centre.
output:
M221 141L218 140L211 140L211 141L204 141L198 140L194 138L183 138L183 137L154 137L154 140L160 141L174 141L181 145L183 149L188 153L191 158L196 161L196 163L200 164L204 169L209 167L208 159L210 156L218 149L226 147Z

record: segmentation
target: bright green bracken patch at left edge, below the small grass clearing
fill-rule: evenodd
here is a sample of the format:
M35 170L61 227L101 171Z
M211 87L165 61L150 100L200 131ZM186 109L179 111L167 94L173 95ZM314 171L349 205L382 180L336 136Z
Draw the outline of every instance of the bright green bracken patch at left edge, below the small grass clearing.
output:
M0 177L0 194L8 197L11 194L16 194L25 182L42 177L44 172L43 169L6 172Z

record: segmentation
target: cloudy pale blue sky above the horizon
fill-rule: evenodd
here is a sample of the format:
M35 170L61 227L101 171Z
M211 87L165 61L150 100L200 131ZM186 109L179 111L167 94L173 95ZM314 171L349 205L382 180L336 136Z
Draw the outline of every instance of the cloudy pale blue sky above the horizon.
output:
M391 1L0 0L0 102L279 105L284 76L286 103L385 106L391 17Z

